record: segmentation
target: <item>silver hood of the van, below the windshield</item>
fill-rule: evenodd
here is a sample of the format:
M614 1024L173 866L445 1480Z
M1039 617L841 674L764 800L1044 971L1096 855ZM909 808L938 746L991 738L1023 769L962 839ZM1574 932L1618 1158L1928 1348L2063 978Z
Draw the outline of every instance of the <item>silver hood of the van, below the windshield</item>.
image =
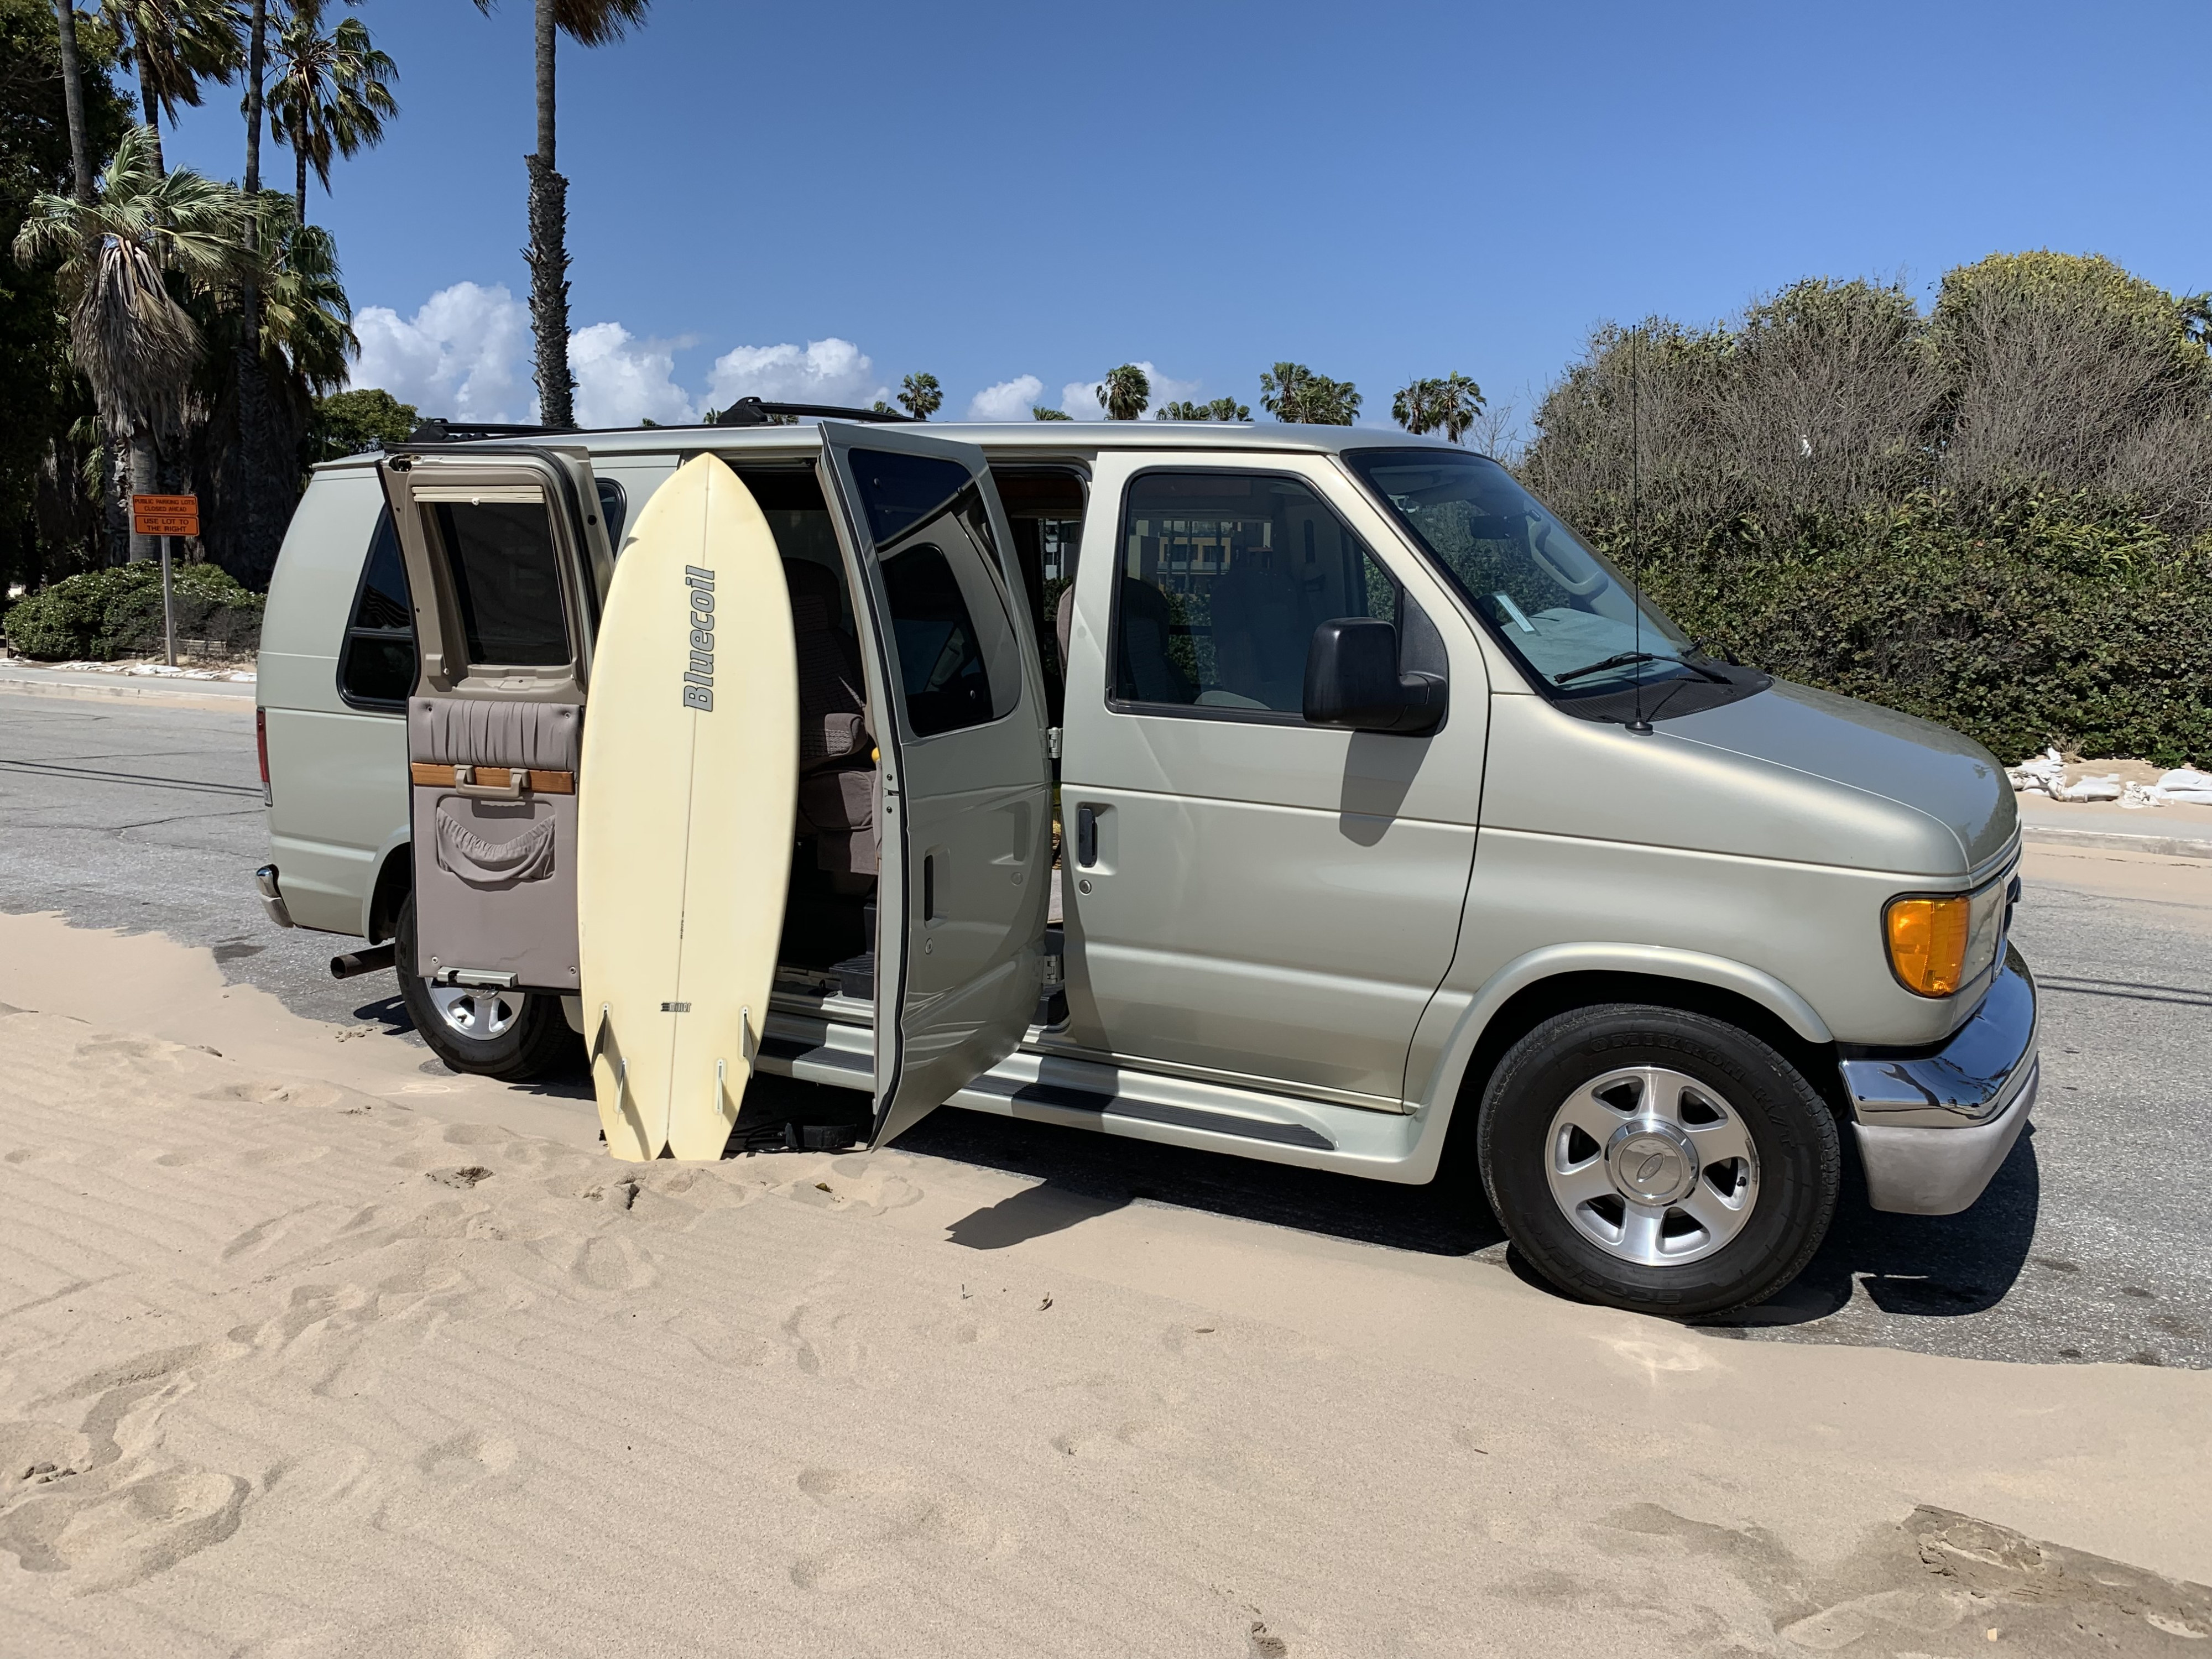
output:
M1668 719L1659 730L1911 807L1958 838L1969 872L2020 834L2020 807L1997 757L1949 726L1893 708L1778 679L1756 697Z

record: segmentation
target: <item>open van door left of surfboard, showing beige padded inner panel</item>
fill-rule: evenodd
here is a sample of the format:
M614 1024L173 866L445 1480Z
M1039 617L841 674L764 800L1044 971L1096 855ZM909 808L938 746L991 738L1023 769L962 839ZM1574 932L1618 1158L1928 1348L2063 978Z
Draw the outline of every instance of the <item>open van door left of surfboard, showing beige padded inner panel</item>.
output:
M383 482L418 639L416 969L573 995L575 770L615 566L591 465L544 449L403 451Z

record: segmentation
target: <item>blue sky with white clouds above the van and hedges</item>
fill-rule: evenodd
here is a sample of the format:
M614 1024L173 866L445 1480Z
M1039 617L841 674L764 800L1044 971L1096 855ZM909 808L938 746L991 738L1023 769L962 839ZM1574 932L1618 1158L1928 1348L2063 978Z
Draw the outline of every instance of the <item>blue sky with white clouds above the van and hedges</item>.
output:
M531 0L363 0L400 66L332 228L354 385L535 411L522 263ZM1710 323L1801 276L1922 303L1989 252L2212 288L2201 4L757 4L562 42L584 425L737 396L947 418L1261 411L1276 361L1387 422L1416 376L1526 418L1604 321ZM173 164L237 179L212 93ZM265 179L292 157L265 148Z

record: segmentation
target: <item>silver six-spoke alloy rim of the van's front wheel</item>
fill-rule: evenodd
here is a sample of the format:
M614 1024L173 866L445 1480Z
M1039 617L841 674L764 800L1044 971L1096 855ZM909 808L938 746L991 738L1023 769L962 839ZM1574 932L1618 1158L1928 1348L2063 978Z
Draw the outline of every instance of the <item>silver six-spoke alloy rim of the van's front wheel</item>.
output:
M1575 1232L1637 1267L1723 1250L1759 1206L1743 1117L1668 1066L1621 1066L1568 1095L1544 1137L1544 1177Z

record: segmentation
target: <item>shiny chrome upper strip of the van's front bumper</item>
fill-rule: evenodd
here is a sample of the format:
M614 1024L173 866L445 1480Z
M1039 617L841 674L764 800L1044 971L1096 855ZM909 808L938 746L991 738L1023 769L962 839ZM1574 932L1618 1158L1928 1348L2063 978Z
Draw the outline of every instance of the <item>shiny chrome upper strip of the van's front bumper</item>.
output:
M2035 1071L2035 975L2004 947L1982 1004L1933 1053L1838 1060L1860 1126L1966 1130L2002 1117Z

